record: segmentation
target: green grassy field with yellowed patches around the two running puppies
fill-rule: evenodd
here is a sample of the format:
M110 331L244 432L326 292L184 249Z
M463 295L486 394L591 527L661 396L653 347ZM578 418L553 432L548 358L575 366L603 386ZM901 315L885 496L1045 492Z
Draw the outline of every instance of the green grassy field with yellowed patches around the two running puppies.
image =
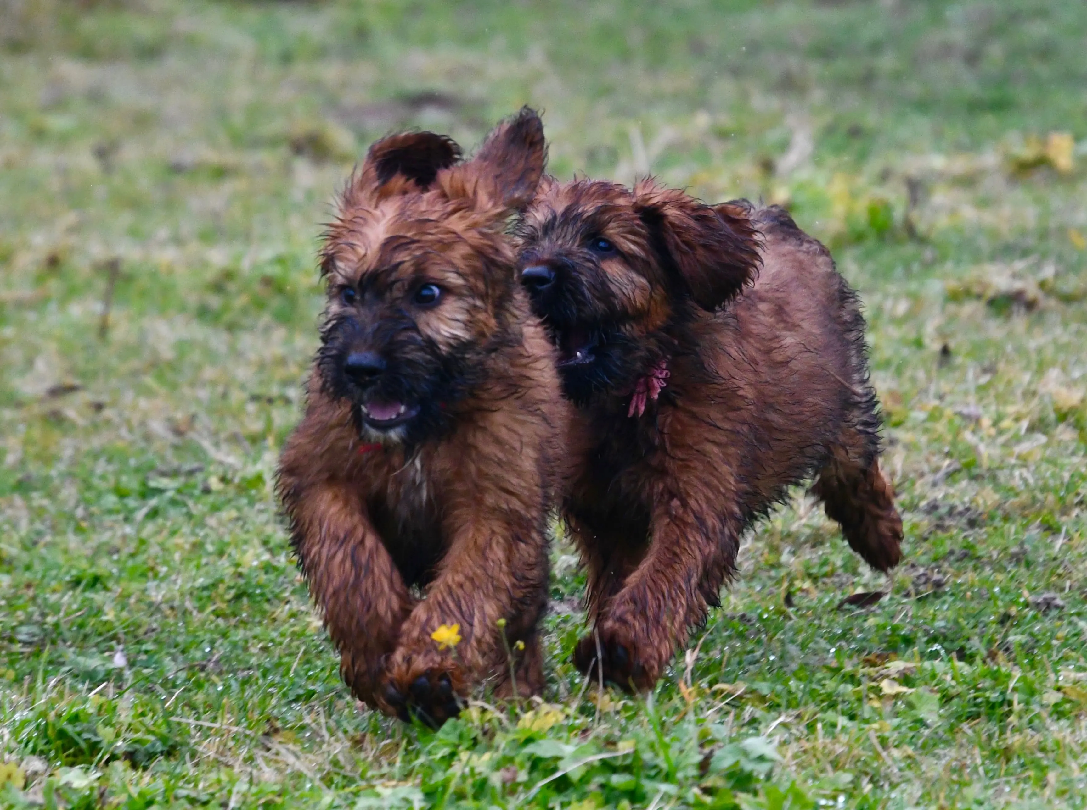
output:
M0 0L0 806L1087 806L1082 0ZM864 298L907 562L802 492L651 695L360 711L272 474L329 200L523 103L787 203ZM870 606L851 594L887 588Z

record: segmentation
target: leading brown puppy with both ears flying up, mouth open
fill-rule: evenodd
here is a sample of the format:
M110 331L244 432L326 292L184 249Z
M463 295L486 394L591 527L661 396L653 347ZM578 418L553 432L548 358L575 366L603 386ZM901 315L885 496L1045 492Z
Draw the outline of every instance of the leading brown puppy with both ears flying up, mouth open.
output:
M569 423L504 235L544 169L540 121L526 109L459 157L441 136L390 136L350 180L278 480L343 680L435 724L484 679L512 691L508 648L516 688L542 686L545 531ZM455 648L432 637L441 625L459 625Z

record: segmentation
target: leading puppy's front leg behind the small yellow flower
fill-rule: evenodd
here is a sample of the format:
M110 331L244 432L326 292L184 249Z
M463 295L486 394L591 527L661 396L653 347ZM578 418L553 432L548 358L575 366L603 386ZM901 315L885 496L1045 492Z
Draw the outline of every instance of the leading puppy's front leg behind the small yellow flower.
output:
M547 605L542 505L518 505L511 492L476 491L457 498L447 518L449 549L426 599L404 622L386 687L387 699L407 699L435 724L458 712L466 681L496 675L497 691L511 691L507 645L517 689L542 685L535 632ZM434 633L442 625L459 625L455 646L440 648Z

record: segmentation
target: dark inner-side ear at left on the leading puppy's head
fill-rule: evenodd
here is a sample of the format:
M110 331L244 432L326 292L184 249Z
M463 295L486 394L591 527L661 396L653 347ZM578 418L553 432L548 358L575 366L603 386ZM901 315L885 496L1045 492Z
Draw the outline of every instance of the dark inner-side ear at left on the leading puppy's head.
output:
M348 194L425 191L438 172L461 159L461 148L445 135L399 132L376 141L366 153L362 170L351 180Z

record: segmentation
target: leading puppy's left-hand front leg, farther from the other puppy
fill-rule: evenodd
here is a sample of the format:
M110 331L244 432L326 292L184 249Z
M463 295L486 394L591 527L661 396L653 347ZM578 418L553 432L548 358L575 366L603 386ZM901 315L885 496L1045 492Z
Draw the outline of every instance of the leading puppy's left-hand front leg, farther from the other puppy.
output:
M383 699L377 684L413 599L358 493L345 481L305 483L289 464L280 491L310 593L340 654L340 675L359 699L404 714L402 706Z

